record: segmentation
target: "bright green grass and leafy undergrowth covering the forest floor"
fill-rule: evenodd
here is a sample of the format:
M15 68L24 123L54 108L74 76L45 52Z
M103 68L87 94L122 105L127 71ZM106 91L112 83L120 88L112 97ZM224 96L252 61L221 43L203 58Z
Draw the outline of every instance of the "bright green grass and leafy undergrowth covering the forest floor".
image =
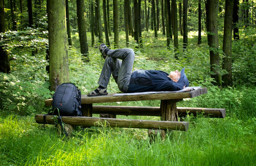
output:
M44 64L38 62L36 65L31 65L36 58L30 59L27 56L26 62L22 61L21 67L16 65L13 69L12 77L15 79L5 76L9 79L5 86L8 86L7 90L12 90L10 94L20 92L19 89L24 85L27 87L24 88L26 90L23 90L23 93L31 94L30 96L28 93L24 96L20 94L16 100L14 98L16 96L11 98L6 94L6 98L10 98L14 103L21 104L23 107L22 109L17 107L19 110L16 110L15 107L11 109L8 102L3 103L5 107L0 111L0 166L256 165L255 86L240 84L237 80L234 80L239 83L236 83L236 87L225 89L219 89L211 84L210 59L205 35L202 36L203 44L197 45L196 33L189 33L188 50L182 52L181 47L179 48L179 60L174 59L173 48L166 49L166 40L160 33L157 40L153 32L143 32L143 37L144 47L140 50L135 49L134 69L160 69L169 72L185 67L191 85L207 87L208 93L179 102L177 106L225 108L227 111L225 119L188 116L185 119L189 121L187 132L172 131L164 141L158 136L156 142L152 144L150 144L146 129L113 129L106 126L90 129L76 127L72 136L65 138L57 134L53 125L43 127L34 120L35 114L45 113L49 109L43 108L42 101L44 96L49 96L49 92L36 89L36 87L39 89L46 86L44 79L47 75L44 71ZM87 38L88 45L90 45L90 33L87 34ZM243 38L242 32L241 38ZM100 57L98 48L90 47L91 61L87 64L82 63L78 51L78 35L74 34L72 39L75 47L69 50L70 81L76 84L83 94L86 94L97 87L97 78L104 61ZM134 48L133 39L130 38L130 41L131 48ZM181 41L182 37L179 37L180 46ZM110 37L110 42L113 45L113 36ZM120 33L120 47L125 47L123 32ZM242 46L239 45L239 47ZM244 46L243 49L248 48ZM251 51L247 50L248 54L253 54L254 50L251 47L250 49ZM245 55L236 47L233 47L233 50L239 61L235 59L233 62L234 75L238 78L241 77L239 69L245 66L242 59ZM23 58L19 54L17 57ZM38 72L34 74L32 71L35 69ZM31 71L32 75L26 71ZM26 73L30 78L33 78L34 74L34 80L28 79L30 84L26 83ZM250 78L253 81L253 76ZM17 79L22 80L24 85L18 84ZM29 91L28 88L30 88ZM34 89L36 89L36 94L32 93ZM110 80L108 92L119 92L113 79ZM30 98L26 102L27 96ZM19 103L19 101L22 102ZM160 101L115 102L105 105L159 106ZM118 118L160 120L159 117L154 116L118 116Z

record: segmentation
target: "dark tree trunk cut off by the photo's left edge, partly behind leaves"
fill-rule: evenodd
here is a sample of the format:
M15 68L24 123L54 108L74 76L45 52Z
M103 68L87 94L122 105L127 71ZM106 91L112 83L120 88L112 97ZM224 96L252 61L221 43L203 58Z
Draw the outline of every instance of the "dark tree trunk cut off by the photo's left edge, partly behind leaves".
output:
M0 0L0 33L5 32L5 7L4 1ZM0 45L0 72L9 73L10 72L10 59L8 52L3 49Z

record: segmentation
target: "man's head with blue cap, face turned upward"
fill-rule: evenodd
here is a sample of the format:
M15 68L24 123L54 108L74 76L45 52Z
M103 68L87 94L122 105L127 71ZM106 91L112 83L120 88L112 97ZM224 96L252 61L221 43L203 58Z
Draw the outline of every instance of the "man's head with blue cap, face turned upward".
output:
M177 83L183 84L185 87L188 87L189 81L187 80L187 77L184 74L184 71L185 69L183 68L181 72L179 72L178 70L176 70L175 72L170 72L168 77L172 79L173 82L177 82Z

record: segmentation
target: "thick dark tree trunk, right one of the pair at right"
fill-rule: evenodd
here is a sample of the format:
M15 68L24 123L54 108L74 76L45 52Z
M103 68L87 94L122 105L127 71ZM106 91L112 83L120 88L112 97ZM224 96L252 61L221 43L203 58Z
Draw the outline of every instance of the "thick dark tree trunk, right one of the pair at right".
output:
M232 16L233 16L234 0L225 0L225 19L224 19L224 34L223 34L223 64L222 69L225 69L228 74L222 76L223 86L232 86Z

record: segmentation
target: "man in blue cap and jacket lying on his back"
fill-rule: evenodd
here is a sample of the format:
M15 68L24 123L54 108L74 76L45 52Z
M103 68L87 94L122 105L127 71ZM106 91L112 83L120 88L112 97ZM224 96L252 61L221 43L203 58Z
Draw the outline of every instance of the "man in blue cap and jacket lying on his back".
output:
M124 93L178 91L189 86L184 68L181 72L176 70L170 74L161 70L135 70L132 72L134 61L132 49L110 50L102 43L99 50L105 59L98 81L100 86L87 96L107 95L111 74L120 91ZM119 59L123 61L121 62Z

